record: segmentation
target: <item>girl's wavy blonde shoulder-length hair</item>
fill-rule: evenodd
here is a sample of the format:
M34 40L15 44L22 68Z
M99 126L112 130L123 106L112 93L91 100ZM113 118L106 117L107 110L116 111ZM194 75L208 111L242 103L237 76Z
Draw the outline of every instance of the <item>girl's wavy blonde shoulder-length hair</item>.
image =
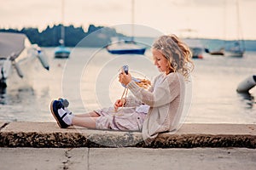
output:
M166 57L169 61L170 72L180 72L183 77L188 78L189 73L194 70L189 47L174 34L159 37L152 48L159 50Z

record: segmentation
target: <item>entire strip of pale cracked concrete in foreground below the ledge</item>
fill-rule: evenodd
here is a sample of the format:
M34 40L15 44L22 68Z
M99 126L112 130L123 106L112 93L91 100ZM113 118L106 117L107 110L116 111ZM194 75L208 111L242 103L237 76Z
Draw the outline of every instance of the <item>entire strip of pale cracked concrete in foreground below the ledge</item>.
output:
M256 150L247 148L0 148L0 169L254 170Z

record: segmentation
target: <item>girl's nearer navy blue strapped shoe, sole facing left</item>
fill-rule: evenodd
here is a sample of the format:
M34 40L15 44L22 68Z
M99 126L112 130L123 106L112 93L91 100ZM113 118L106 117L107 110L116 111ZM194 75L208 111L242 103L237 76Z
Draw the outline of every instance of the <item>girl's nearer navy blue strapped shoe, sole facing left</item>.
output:
M69 127L69 125L67 125L67 123L62 120L63 117L67 116L67 113L65 113L63 116L60 116L58 112L59 109L63 109L63 108L64 106L62 105L62 102L60 100L53 100L50 103L51 114L55 117L55 120L58 123L59 127L67 128Z

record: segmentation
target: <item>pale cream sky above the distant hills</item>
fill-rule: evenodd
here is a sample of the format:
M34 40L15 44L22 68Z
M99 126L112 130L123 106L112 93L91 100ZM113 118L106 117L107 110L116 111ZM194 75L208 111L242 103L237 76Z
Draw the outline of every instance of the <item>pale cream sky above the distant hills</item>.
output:
M0 0L0 27L119 26L131 24L132 0ZM134 0L134 24L165 34L256 39L255 0ZM238 3L237 3L238 2ZM237 5L238 4L238 5ZM237 9L238 7L238 9ZM238 12L237 12L238 11ZM129 34L129 33L127 33ZM135 35L148 36L150 35Z

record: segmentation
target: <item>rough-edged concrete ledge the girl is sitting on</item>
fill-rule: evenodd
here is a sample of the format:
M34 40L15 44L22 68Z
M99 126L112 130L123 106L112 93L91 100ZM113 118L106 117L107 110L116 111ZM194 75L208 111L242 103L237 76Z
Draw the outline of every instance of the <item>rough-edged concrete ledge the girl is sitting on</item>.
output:
M0 122L0 147L246 147L256 148L256 124L183 124L152 144L139 132L61 129L54 122Z

